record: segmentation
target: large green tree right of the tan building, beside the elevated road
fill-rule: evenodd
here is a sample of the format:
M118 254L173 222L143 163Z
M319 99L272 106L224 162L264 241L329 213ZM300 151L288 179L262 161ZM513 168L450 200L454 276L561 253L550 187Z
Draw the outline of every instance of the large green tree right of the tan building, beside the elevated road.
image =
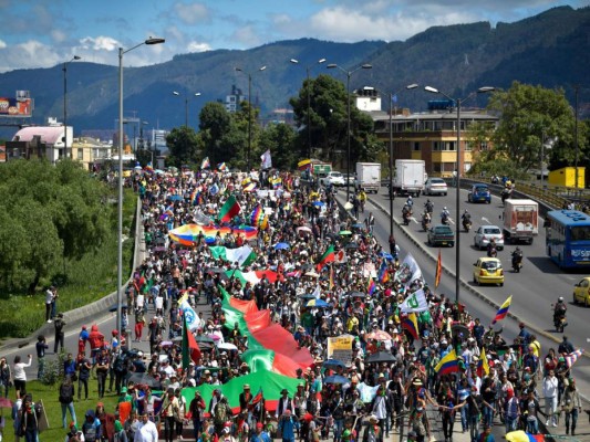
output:
M506 155L524 170L537 168L544 141L557 138L551 151L546 150L550 162L573 162L575 114L563 90L514 82L509 90L491 95L488 109L500 115L493 137L497 156Z

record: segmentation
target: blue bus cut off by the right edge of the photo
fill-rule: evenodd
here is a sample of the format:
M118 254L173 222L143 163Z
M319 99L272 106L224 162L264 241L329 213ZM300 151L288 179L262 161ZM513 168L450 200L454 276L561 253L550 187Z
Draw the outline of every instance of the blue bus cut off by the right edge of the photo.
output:
M545 218L547 255L560 269L590 267L590 217L577 210L551 210Z

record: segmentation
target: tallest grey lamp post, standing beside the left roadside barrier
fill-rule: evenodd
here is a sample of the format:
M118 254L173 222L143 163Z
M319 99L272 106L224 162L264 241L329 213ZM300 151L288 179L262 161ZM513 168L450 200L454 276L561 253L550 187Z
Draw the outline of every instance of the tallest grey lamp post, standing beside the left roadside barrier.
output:
M121 330L121 304L123 285L123 55L144 44L161 44L166 40L149 38L133 48L118 49L118 204L117 204L117 272L116 272L116 328ZM121 330L123 332L123 330Z

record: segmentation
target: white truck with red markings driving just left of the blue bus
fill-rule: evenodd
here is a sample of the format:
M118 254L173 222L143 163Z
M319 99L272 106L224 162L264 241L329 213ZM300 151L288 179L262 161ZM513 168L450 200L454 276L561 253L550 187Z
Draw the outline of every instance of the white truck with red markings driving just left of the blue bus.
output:
M532 236L539 233L539 204L536 201L507 199L503 219L505 243L532 244Z

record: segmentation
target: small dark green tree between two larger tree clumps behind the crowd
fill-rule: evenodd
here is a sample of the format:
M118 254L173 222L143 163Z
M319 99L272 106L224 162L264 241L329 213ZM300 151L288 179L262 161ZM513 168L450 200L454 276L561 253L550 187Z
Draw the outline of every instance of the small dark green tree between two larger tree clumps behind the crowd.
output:
M260 134L259 150L256 158L270 150L272 167L292 170L297 166L298 155L294 150L297 134L283 123L270 124Z

